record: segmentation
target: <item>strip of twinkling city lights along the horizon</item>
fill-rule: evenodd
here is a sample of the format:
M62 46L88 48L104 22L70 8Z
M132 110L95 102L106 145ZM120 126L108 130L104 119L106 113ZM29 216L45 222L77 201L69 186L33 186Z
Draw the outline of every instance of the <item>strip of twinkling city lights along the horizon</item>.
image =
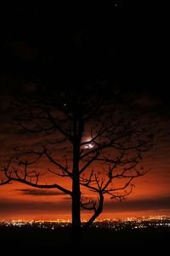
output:
M87 219L82 219L82 225L87 222ZM25 219L9 219L1 220L0 227L14 228L37 228L55 230L57 228L71 227L70 219L51 219L51 220L25 220ZM166 228L170 229L170 218L166 216L150 216L142 218L123 218L123 219L97 219L92 226L96 229L110 230L126 230L126 229L149 229L149 228Z

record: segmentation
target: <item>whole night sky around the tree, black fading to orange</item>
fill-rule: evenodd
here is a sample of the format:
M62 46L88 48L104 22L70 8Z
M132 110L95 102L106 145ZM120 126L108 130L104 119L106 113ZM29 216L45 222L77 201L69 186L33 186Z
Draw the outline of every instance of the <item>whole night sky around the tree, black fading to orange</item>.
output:
M70 3L66 8L42 3L1 9L0 164L14 154L17 143L41 142L15 132L14 107L8 98L19 93L20 84L29 88L43 81L76 84L80 89L106 79L125 88L137 106L150 114L155 140L142 161L150 172L135 180L127 201L106 200L101 217L169 215L167 22L150 12L138 15L125 7L122 1L109 1L98 6ZM69 218L71 201L58 190L11 183L0 187L0 209L0 218Z

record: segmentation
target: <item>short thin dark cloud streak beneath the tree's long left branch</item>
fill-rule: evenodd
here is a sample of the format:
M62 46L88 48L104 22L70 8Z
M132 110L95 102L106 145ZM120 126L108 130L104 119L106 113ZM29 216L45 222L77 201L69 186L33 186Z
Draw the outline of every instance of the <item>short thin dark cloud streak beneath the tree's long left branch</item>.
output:
M24 195L63 195L62 192L54 191L54 190L46 190L46 189L15 189L16 191L20 191Z

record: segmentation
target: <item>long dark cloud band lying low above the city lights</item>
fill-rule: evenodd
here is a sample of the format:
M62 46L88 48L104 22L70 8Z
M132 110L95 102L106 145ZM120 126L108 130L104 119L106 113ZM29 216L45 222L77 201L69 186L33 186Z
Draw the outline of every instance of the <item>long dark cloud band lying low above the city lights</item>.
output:
M48 202L48 201L5 201L0 200L1 213L16 214L20 212L71 212L71 202L66 200L58 202ZM107 212L140 212L145 211L169 211L170 210L170 197L160 197L160 198L146 198L133 201L105 201L105 210ZM0 215L1 217L1 215Z

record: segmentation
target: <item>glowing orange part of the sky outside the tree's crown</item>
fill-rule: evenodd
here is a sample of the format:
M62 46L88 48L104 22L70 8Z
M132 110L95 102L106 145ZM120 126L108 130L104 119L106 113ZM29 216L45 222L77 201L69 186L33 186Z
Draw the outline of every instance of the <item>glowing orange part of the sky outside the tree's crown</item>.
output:
M11 111L11 110L10 110ZM159 122L158 122L159 123ZM0 126L0 162L8 160L13 154L13 148L18 143L35 145L39 138L26 135L16 135L10 128L10 116L3 116L3 125ZM144 177L133 181L133 193L122 203L105 199L104 212L100 218L120 218L125 216L170 214L170 122L165 120L159 123L156 131L154 147L145 153L141 164L150 168ZM26 141L25 141L26 140ZM37 168L47 170L48 164L42 161ZM69 187L66 178L48 174L48 183L58 182ZM42 179L46 183L46 179ZM89 192L88 192L89 193ZM88 194L89 195L89 194ZM71 201L68 195L61 195L58 190L34 189L21 183L11 183L0 187L0 218L70 218ZM82 218L88 218L89 212L82 212Z

